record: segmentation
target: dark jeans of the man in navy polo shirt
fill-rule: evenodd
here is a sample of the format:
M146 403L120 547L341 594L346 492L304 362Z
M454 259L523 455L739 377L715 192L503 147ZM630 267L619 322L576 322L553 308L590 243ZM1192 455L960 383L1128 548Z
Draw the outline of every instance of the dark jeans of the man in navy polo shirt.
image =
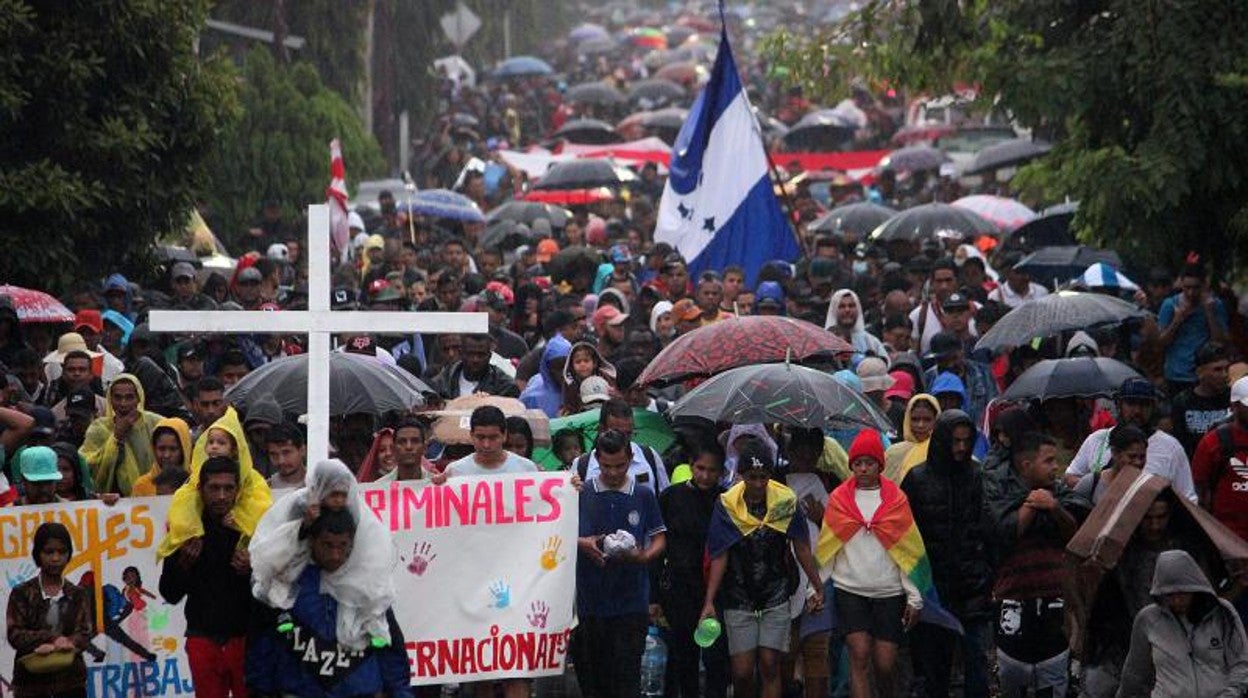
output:
M641 652L649 624L645 613L580 618L573 634L573 662L584 698L636 698L641 694Z

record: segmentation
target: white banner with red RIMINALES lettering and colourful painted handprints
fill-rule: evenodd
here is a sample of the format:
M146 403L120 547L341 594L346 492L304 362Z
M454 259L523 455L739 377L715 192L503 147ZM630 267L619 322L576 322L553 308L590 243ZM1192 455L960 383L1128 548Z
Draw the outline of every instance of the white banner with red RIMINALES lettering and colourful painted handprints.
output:
M579 511L570 473L362 487L399 549L413 684L562 674Z

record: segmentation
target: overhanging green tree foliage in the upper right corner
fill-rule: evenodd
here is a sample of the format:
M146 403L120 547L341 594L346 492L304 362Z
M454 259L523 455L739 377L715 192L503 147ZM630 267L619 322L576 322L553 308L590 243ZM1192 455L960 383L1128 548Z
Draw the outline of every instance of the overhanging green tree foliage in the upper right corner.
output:
M871 0L769 47L824 96L850 76L936 95L978 86L1057 142L1016 186L1080 200L1088 242L1141 262L1248 252L1242 0Z

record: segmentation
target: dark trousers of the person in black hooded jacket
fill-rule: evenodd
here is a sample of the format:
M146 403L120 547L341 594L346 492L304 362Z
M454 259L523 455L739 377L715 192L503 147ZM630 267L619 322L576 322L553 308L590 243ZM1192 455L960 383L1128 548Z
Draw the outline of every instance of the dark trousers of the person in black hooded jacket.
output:
M910 651L915 663L915 694L929 698L948 696L948 677L953 648L962 648L962 676L966 698L988 696L988 652L992 648L990 621L962 621L966 634L920 623L910 632Z

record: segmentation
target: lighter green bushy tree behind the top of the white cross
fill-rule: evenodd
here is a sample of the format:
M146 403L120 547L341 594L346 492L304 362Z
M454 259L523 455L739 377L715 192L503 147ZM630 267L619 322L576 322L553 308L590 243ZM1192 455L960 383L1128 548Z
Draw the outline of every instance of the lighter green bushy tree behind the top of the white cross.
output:
M278 66L268 50L253 49L238 76L238 96L242 116L225 130L205 165L203 200L227 246L243 235L266 200L277 201L286 220L298 220L308 204L324 201L334 137L342 141L349 181L384 172L377 141L311 65Z

